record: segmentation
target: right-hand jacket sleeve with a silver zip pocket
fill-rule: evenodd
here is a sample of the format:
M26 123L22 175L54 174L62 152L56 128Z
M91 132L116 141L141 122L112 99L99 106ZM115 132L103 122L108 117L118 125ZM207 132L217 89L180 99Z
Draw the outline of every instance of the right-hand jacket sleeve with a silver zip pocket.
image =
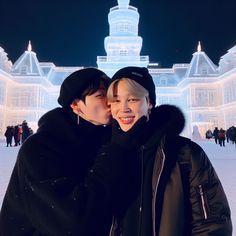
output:
M232 235L229 204L214 167L194 142L191 157L192 235Z

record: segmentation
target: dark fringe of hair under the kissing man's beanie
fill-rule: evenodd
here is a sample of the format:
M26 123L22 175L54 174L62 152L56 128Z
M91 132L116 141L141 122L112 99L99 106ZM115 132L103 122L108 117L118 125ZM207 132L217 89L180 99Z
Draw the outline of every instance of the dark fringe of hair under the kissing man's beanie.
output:
M78 99L82 100L85 103L85 97L96 93L101 87L101 85L104 86L105 90L107 90L108 85L109 85L109 78L104 76L104 77L101 77L100 80L94 79L90 83L90 85L84 90L81 96L78 97Z

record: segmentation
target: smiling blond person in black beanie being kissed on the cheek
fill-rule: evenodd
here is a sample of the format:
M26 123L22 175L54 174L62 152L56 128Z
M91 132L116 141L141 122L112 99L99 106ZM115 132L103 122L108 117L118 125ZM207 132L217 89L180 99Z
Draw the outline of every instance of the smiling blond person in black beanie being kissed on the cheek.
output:
M155 108L148 70L119 70L107 96L115 122L112 149L103 156L129 166L117 185L110 235L232 235L212 164L200 146L179 136L184 117L178 108Z

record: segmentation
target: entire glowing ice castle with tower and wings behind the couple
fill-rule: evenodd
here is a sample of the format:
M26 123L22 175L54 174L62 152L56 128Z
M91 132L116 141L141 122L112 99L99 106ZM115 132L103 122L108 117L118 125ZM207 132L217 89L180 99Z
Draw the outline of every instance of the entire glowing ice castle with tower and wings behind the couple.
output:
M157 104L175 104L183 110L185 136L191 136L196 128L204 136L207 129L216 126L236 126L236 46L215 65L199 42L189 63L159 68L149 63L148 56L140 56L139 13L129 0L118 0L118 5L110 9L108 22L106 56L97 57L99 69L112 75L128 65L147 67L155 81ZM83 66L58 67L39 62L31 42L12 64L0 47L0 136L6 126L23 120L37 129L39 117L58 106L59 88L65 77L80 68Z

